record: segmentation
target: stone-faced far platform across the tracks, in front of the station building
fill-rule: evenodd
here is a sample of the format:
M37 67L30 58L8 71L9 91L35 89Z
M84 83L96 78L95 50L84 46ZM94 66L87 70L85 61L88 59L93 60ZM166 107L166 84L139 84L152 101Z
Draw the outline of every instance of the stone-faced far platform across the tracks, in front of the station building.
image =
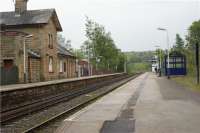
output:
M60 95L87 88L96 88L120 80L127 75L124 73L99 75L77 79L64 79L48 82L21 84L16 86L5 86L0 90L2 100L2 111L14 109L16 107L45 101Z

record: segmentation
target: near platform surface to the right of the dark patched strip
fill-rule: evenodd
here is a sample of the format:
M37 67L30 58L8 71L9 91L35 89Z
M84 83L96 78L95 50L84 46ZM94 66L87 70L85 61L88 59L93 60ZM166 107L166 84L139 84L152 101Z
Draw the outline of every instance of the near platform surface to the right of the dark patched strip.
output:
M148 73L135 107L136 133L200 133L200 94Z

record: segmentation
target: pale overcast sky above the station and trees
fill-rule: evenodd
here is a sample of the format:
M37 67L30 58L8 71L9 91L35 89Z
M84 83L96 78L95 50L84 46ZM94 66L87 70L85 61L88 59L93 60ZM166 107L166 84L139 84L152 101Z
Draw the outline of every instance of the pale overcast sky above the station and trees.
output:
M13 11L13 0L0 0L0 11ZM123 51L166 48L167 28L170 44L175 34L182 37L200 19L200 0L29 0L28 9L55 8L63 35L79 48L85 38L85 16L105 26Z

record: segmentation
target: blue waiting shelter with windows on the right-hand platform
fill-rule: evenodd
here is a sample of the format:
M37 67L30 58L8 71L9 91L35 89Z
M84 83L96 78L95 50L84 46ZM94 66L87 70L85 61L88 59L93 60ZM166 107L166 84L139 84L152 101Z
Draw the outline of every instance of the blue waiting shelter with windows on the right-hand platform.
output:
M168 66L168 58L165 56L164 60L164 68L165 75L186 75L186 56L180 53L173 53L169 56L169 68Z

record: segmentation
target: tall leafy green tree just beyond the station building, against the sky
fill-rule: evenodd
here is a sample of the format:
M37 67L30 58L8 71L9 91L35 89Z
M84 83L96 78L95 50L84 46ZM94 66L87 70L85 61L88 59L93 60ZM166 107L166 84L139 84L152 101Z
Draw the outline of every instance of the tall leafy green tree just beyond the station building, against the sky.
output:
M86 58L101 69L123 71L124 54L116 47L110 32L104 26L86 18L87 40L81 46Z

